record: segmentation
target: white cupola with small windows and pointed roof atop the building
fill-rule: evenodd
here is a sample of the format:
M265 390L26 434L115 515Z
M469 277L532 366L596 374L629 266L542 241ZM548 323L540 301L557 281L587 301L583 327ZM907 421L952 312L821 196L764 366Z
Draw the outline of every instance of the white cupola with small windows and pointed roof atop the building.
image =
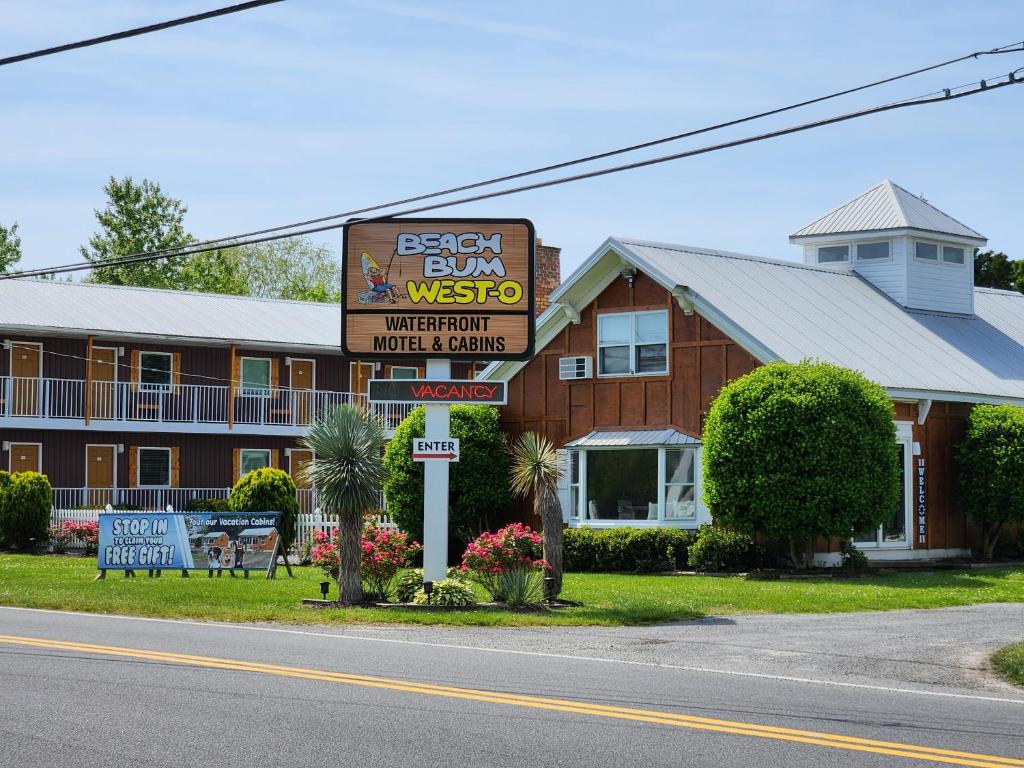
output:
M974 252L988 241L887 180L790 242L804 263L857 272L907 308L974 314Z

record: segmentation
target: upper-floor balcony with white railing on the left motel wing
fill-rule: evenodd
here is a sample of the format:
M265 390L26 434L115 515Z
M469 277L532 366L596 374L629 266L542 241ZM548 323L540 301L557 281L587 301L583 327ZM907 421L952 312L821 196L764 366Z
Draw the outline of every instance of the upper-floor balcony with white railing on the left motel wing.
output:
M0 377L0 426L301 435L345 403L371 408L388 434L409 403L370 403L366 395L315 389L241 389L206 384L147 385L79 379Z

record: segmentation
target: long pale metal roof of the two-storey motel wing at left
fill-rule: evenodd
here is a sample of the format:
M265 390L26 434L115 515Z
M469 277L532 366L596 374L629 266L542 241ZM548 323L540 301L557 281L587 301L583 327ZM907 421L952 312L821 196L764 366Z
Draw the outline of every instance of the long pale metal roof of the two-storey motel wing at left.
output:
M0 281L0 328L339 349L338 304L54 281Z

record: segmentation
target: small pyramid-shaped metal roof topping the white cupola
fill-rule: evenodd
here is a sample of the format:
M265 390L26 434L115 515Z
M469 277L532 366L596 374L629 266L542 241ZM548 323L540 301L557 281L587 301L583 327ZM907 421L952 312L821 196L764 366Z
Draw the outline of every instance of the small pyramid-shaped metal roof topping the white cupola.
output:
M795 240L880 229L923 229L959 238L985 240L984 234L889 180L871 187L810 224L802 226L790 238Z

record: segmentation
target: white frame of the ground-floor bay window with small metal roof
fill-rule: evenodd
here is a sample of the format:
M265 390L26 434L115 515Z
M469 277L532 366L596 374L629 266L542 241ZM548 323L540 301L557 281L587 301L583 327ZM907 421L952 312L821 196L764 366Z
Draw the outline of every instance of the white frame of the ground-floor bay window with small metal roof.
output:
M666 490L668 488L667 478L666 478L666 452L667 451L678 451L691 449L694 453L693 455L693 500L694 508L696 514L692 518L667 518L666 512ZM701 453L702 446L699 444L693 445L608 445L608 446L595 446L595 447L571 447L567 449L568 456L566 461L568 461L569 467L571 467L572 454L578 454L580 457L580 472L577 476L577 482L572 482L571 474L569 475L569 499L572 498L572 488L577 488L577 505L575 509L569 509L569 525L572 527L593 527L593 528L615 528L615 527L635 527L635 528L684 528L687 530L695 530L701 524L711 522L711 515L707 508L700 501L700 471L701 471ZM653 460L657 461L657 517L652 520L594 520L588 517L587 511L587 455L590 453L596 453L598 451L649 451L655 456L651 457ZM571 469L569 469L571 471ZM682 483L673 483L682 484Z

